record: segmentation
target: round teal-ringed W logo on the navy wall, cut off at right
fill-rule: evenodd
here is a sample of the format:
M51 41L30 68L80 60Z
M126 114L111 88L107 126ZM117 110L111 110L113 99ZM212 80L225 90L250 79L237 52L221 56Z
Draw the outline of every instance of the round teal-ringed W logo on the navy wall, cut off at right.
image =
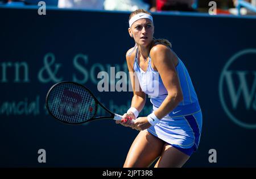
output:
M245 49L228 60L221 71L218 93L234 123L256 128L256 49Z

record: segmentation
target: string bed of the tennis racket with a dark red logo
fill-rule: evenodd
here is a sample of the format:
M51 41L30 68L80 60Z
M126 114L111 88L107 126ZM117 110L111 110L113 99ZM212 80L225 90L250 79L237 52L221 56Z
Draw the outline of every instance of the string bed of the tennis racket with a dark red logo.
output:
M52 115L67 123L82 123L93 118L97 104L88 90L75 84L60 84L48 94Z

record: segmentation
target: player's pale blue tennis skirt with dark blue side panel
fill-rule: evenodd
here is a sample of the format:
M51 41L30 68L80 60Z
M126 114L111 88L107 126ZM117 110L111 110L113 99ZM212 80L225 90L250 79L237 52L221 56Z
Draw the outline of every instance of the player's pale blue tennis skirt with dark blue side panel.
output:
M191 156L199 146L202 119L201 109L188 115L166 116L147 131Z

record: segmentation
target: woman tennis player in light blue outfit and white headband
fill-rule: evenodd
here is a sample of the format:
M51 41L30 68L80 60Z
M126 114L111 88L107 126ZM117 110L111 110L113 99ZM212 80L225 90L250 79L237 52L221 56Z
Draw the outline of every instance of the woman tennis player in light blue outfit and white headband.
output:
M135 74L130 73L134 96L130 109L116 123L140 132L124 167L148 167L158 158L155 167L181 167L196 151L201 135L202 114L191 78L170 42L153 38L150 13L133 11L129 26L136 44L126 54L129 72ZM151 97L152 113L137 118L146 94Z

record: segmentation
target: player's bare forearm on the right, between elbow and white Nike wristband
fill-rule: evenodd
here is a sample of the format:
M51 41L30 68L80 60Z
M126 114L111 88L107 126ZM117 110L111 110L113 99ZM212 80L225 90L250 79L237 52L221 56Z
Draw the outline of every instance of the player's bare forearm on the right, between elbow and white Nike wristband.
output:
M163 103L159 106L159 108L154 112L158 119L162 119L164 116L169 114L175 107L183 100L182 96L178 95L167 95L166 99L164 99Z

